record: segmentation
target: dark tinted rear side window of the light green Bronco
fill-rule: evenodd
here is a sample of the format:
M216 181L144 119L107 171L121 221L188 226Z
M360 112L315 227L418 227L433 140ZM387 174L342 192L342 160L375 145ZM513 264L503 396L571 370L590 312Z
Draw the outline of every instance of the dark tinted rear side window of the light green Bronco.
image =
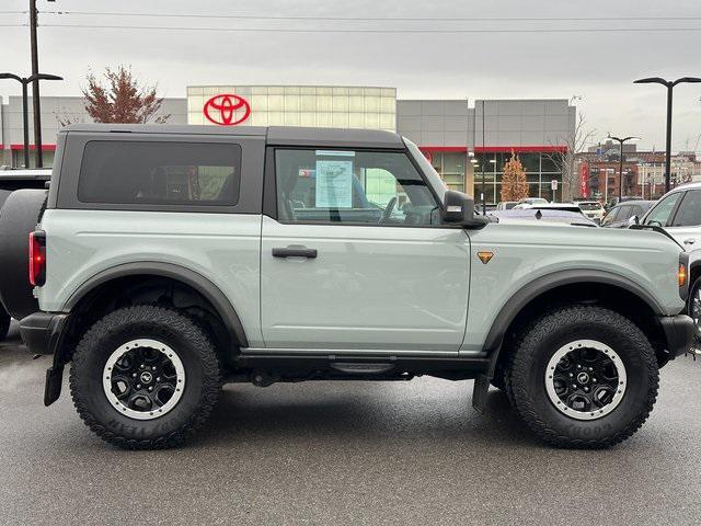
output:
M85 145L82 203L232 206L241 147L214 142L93 140Z

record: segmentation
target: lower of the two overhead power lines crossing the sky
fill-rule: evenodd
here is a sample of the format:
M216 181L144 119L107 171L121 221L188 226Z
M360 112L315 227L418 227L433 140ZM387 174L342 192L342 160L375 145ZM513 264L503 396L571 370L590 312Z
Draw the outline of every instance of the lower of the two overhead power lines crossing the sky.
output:
M26 25L26 24L24 24ZM67 28L90 28L90 30L149 30L149 31L211 31L223 33L402 33L402 34L464 34L464 33L687 33L699 32L701 27L571 27L571 28L509 28L509 30L412 30L412 28L384 28L384 30L348 30L348 28L323 28L304 30L290 27L192 27L192 26L166 26L166 25L90 25L90 24L42 24L42 27L67 27Z

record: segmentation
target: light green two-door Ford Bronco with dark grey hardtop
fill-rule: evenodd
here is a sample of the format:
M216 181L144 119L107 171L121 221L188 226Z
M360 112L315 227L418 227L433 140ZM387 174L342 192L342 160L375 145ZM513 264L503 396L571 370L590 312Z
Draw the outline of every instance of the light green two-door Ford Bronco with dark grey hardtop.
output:
M181 443L227 382L422 375L474 379L479 410L495 386L550 444L610 446L694 330L698 268L664 231L480 216L392 133L76 125L46 202L15 194L45 403L71 363L78 413L127 448Z

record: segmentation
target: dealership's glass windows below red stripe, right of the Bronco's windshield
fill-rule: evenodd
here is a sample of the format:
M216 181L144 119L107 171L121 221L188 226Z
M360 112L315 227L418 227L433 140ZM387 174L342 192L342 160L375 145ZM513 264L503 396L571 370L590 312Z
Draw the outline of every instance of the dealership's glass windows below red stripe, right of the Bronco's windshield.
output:
M556 153L528 152L518 153L518 158L526 170L528 181L528 196L543 197L548 201L562 199L562 172L558 171L552 156ZM476 153L474 164L474 195L482 192L484 174L484 198L487 204L501 201L502 178L504 164L512 158L512 153ZM552 181L558 181L558 190L552 190ZM469 193L469 192L468 192Z

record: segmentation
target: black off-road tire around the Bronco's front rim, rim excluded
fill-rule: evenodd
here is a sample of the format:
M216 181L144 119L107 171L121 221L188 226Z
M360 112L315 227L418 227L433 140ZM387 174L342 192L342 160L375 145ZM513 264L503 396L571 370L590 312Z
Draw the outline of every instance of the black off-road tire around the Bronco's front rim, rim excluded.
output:
M578 339L596 340L623 362L628 386L618 407L597 420L575 420L555 409L545 390L548 362L558 348ZM596 306L553 310L516 342L507 393L520 419L543 441L564 448L613 446L635 433L657 399L657 359L645 334L628 318Z

